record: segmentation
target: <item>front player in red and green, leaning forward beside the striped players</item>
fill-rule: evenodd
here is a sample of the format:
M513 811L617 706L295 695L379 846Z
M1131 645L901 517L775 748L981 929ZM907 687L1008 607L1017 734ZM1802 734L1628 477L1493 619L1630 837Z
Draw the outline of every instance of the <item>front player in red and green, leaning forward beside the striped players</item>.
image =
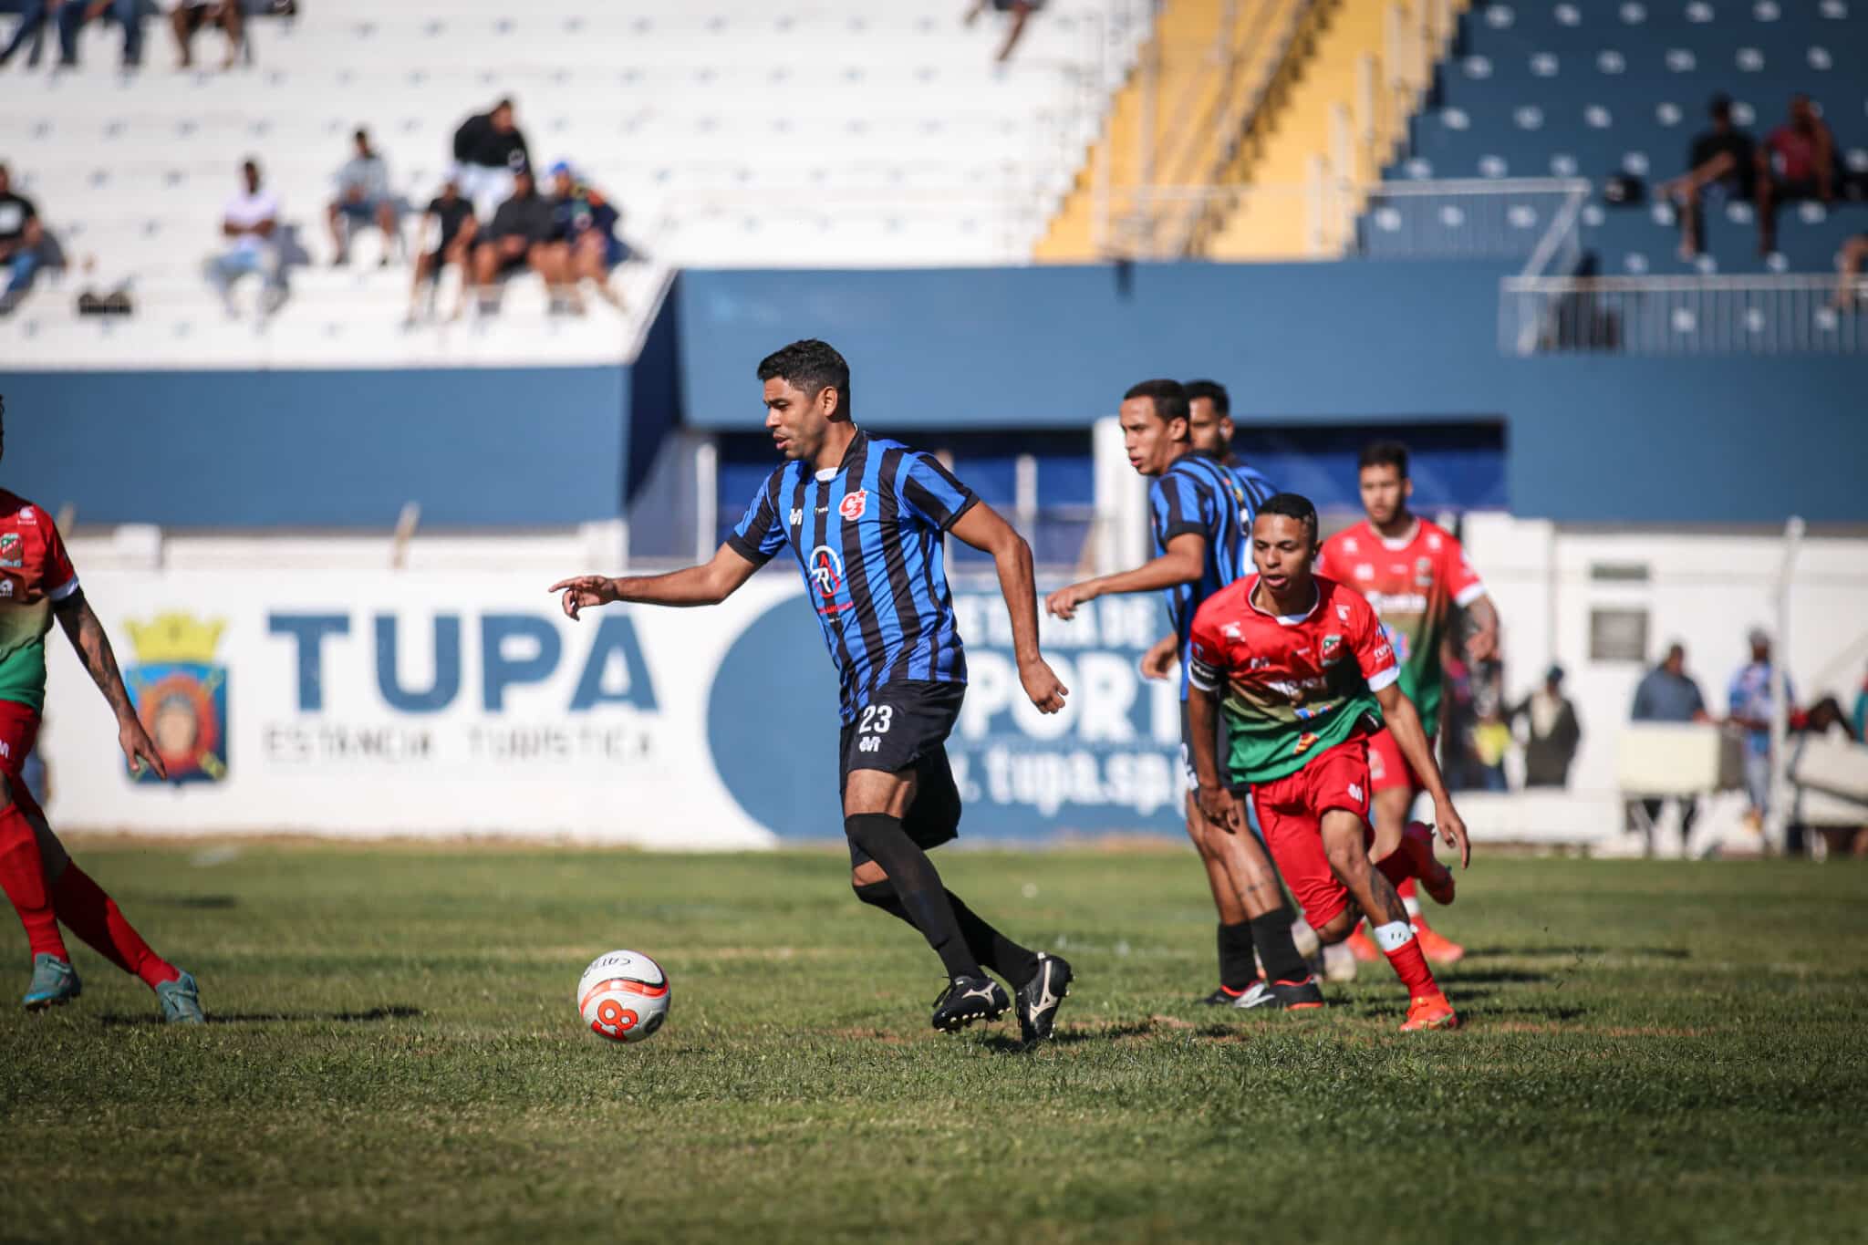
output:
M1313 575L1317 508L1295 493L1267 498L1252 525L1248 575L1194 616L1188 700L1197 799L1207 819L1248 838L1233 786L1250 784L1265 842L1324 943L1349 937L1369 916L1375 941L1408 987L1403 1030L1453 1028L1394 883L1420 877L1453 902L1453 874L1433 857L1427 827L1371 853L1369 735L1386 720L1401 754L1433 797L1440 834L1470 862L1466 827L1427 750L1414 706L1380 620L1352 588ZM1224 709L1220 702L1224 698ZM1214 726L1224 711L1222 767ZM1373 857L1373 868L1371 868Z

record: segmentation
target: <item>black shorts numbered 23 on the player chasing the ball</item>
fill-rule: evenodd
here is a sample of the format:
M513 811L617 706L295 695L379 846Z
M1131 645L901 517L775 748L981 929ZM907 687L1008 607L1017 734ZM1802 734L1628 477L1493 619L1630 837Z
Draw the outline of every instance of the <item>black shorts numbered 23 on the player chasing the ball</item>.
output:
M902 679L878 687L837 739L837 801L850 788L850 771L915 773L915 801L902 829L919 847L938 847L960 834L960 788L947 763L947 735L960 719L966 683ZM850 868L869 853L850 844Z

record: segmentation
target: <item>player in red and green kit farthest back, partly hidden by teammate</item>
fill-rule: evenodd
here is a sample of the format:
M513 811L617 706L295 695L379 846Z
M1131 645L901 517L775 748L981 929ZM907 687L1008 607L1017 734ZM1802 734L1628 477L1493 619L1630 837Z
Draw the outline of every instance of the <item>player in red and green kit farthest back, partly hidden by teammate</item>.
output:
M1466 655L1476 663L1498 651L1498 610L1459 539L1408 511L1414 482L1407 446L1397 441L1366 446L1360 485L1367 519L1326 539L1317 569L1362 592L1380 614L1401 663L1401 691L1420 713L1431 752L1440 728L1440 644L1448 638L1453 609L1472 614L1476 631L1466 640ZM1369 778L1375 784L1375 847L1390 851L1423 784L1386 730L1369 739ZM1427 959L1457 963L1466 948L1427 924L1412 881L1399 890ZM1358 959L1377 958L1362 930L1349 939L1349 948Z

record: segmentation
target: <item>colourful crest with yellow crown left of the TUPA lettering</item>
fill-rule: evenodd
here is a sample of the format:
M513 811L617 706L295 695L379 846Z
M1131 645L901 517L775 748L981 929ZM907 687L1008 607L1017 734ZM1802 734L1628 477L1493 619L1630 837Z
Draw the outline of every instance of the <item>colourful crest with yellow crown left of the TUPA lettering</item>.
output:
M127 627L136 664L123 670L123 687L168 780L220 782L228 776L228 670L215 663L215 648L226 623L176 612ZM161 782L149 769L131 780Z

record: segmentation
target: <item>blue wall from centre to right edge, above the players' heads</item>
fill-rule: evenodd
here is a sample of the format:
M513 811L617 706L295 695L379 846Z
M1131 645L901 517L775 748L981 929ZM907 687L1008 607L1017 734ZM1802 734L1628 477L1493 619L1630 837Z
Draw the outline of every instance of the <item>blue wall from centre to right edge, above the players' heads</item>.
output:
M1210 375L1244 424L1506 422L1506 495L1564 521L1868 519L1868 360L1498 355L1493 263L684 273L687 418L757 427L753 368L822 336L876 427L1080 426Z

